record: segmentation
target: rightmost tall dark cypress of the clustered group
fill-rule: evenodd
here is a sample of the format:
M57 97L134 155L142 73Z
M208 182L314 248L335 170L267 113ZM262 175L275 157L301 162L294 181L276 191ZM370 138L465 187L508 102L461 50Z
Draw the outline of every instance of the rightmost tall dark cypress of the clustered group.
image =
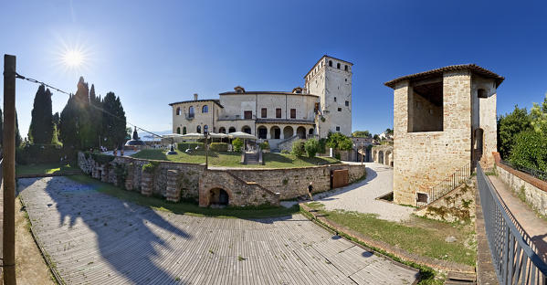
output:
M109 148L120 147L125 142L126 118L120 97L108 92L102 100L102 133Z

